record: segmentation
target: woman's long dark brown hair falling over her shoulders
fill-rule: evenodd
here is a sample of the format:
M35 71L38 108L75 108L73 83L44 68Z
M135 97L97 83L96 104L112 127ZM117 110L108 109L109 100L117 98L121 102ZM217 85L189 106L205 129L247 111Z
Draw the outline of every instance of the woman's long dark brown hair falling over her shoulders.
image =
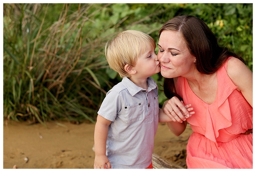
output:
M158 39L163 31L179 31L184 38L190 54L196 58L195 67L198 72L209 75L216 72L228 57L238 58L239 55L227 47L220 47L217 39L207 24L192 15L176 16L166 22L158 32ZM169 99L177 96L173 78L164 79L164 93Z

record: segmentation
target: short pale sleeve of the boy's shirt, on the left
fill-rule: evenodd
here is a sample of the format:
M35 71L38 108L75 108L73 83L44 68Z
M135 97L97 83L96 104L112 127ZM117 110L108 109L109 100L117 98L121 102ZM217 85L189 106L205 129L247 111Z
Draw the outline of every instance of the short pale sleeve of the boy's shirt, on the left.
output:
M119 93L114 90L108 91L105 99L99 108L98 114L107 120L114 121L121 111L122 102Z

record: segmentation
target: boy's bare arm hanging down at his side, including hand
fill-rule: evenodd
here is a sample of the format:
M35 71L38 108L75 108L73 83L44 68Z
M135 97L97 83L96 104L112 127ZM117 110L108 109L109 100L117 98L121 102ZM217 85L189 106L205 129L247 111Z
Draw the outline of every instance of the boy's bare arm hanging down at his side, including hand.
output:
M94 130L94 169L104 169L106 165L107 168L111 168L110 162L106 156L106 142L108 136L108 127L110 124L110 120L98 115Z

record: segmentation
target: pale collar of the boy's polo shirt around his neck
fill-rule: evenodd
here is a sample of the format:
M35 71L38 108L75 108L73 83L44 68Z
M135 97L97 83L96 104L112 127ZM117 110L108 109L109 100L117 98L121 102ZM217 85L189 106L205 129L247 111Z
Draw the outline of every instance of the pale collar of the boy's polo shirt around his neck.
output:
M154 79L152 79L151 77L147 78L147 82L148 82L148 90L146 90L146 92L154 90L157 87L156 82L154 81ZM127 77L123 77L122 79L122 84L127 88L127 90L129 91L129 93L131 94L131 96L134 96L135 94L137 94L139 91L145 90L141 87L138 87L136 84L134 84L129 78Z

